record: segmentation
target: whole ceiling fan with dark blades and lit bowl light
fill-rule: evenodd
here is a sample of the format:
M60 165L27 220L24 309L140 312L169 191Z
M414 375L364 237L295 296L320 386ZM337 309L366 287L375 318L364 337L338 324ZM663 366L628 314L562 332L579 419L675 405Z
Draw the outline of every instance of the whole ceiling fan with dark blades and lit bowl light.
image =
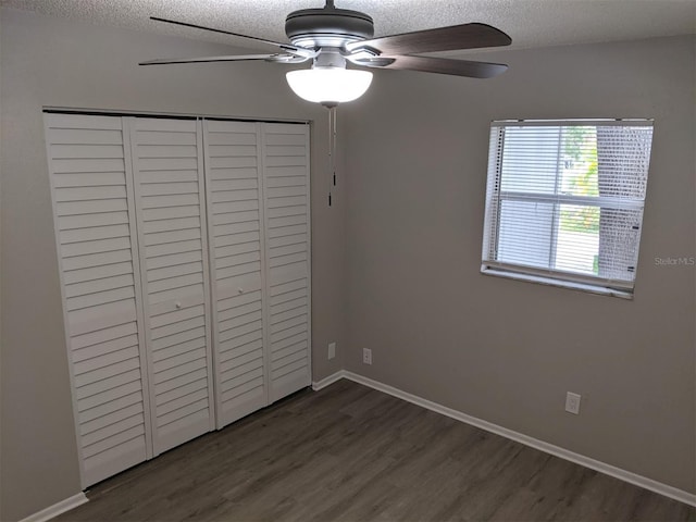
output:
M326 0L326 4L322 9L303 9L287 15L285 33L291 44L157 16L151 16L151 20L247 38L276 47L279 51L272 54L150 60L141 62L140 65L248 60L295 64L311 60L311 69L287 73L287 82L300 98L322 103L328 108L352 101L362 96L370 87L372 73L364 70L347 69L348 64L490 78L504 73L508 66L499 63L417 54L508 46L512 41L501 30L478 23L374 38L374 23L371 16L359 11L338 9L334 5L334 0Z

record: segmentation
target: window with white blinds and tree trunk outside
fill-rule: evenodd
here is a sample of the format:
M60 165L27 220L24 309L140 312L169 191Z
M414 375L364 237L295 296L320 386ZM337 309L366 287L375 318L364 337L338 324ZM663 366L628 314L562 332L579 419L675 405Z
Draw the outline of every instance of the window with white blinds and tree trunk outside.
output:
M652 121L493 122L482 272L631 297Z

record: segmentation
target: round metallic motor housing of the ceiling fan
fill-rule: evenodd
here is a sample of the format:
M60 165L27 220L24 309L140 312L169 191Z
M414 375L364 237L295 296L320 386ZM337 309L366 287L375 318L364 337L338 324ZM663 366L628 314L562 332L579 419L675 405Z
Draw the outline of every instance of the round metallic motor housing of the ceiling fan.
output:
M372 17L359 11L326 7L294 11L285 20L285 33L293 45L319 49L341 48L374 36Z

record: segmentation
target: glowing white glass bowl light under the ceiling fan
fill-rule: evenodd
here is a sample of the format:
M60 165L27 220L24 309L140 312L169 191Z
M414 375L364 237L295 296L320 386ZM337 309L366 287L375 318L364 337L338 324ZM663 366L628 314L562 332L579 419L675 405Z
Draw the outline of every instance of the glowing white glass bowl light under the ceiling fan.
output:
M372 73L340 67L290 71L285 76L293 91L314 103L346 103L366 92Z

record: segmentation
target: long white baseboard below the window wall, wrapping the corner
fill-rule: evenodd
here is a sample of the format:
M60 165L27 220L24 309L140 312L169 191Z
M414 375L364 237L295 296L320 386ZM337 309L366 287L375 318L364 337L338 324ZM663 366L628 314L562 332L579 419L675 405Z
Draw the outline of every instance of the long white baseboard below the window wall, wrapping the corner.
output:
M538 449L539 451L550 453L555 457L559 457L570 462L574 462L576 464L584 465L585 468L589 468L592 470L598 471L606 475L613 476L614 478L619 478L624 482L634 484L636 486L644 487L645 489L649 489L660 495L664 495L666 497L673 498L674 500L679 500L680 502L688 504L689 506L696 506L696 495L693 495L688 492L684 492L683 489L679 489L668 484L654 481L652 478L648 478L646 476L638 475L636 473L623 470L621 468L617 468L616 465L607 464L606 462L601 462L599 460L585 457L584 455L575 453L574 451L570 451L568 449L561 448L559 446L555 446L549 443L545 443L544 440L530 437L529 435L524 435L522 433L519 433L512 430L508 430L507 427L499 426L492 422L487 422L482 419L468 415L460 411L452 410L451 408L447 408L443 405L438 405L437 402L433 402L431 400L418 397L417 395L412 395L407 391L403 391L399 388L395 388L394 386L382 384L377 381L373 381L372 378L358 375L357 373L341 370L339 372L334 373L333 375L330 375L326 378L319 381L318 383L313 383L312 387L315 390L319 390L335 383L336 381L339 381L340 378L347 378L349 381L363 384L371 388L377 389L380 391L384 391L385 394L391 395L399 399L403 399L408 402L412 402L414 405L435 411L437 413L449 417L457 421L464 422L472 426L480 427L481 430L485 430L486 432L495 433L496 435L500 435L511 440L515 440L520 444L524 444L525 446L530 446L534 449Z

